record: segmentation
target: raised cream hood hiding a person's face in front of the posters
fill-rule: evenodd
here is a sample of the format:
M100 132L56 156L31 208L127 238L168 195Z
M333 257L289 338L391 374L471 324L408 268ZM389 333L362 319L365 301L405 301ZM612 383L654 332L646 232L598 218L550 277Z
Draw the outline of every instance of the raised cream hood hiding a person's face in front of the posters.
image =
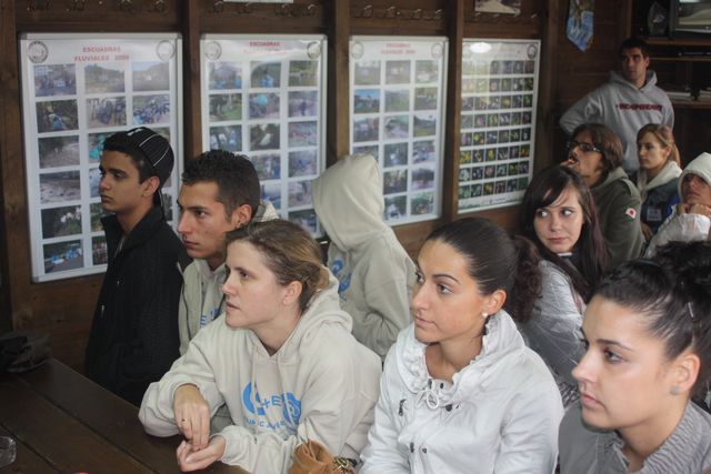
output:
M343 252L390 228L383 222L382 177L370 154L348 155L313 180L313 208Z

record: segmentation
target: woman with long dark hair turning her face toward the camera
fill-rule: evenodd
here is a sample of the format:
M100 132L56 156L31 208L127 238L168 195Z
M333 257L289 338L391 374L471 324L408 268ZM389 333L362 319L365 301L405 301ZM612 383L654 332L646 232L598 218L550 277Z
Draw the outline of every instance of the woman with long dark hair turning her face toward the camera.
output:
M542 285L531 319L519 327L551 369L568 407L579 396L571 371L583 353L582 314L607 261L595 205L580 174L554 165L533 178L520 215L523 235L541 254Z

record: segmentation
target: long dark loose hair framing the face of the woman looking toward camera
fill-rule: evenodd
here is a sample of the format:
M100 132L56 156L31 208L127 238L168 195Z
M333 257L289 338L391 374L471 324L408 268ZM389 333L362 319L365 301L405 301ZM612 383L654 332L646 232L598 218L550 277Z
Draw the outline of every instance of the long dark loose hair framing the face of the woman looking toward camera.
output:
M583 224L575 250L580 256L578 268L554 252L551 252L535 233L535 212L554 203L562 192L572 188L578 193L578 202L583 213ZM608 255L598 222L598 211L590 189L577 171L568 167L553 165L541 170L525 189L520 213L521 232L530 239L541 256L558 265L585 301L590 301L607 266Z

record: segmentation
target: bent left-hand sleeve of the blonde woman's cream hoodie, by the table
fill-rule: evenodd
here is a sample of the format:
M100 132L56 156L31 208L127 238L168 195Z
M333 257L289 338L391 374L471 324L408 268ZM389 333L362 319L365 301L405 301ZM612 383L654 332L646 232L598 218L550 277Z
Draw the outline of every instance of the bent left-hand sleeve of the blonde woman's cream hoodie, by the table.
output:
M143 395L138 416L147 433L154 436L179 433L173 412L173 394L180 385L188 383L198 386L210 406L210 416L224 403L206 354L198 344L190 344L186 355L178 359L160 381L150 384Z

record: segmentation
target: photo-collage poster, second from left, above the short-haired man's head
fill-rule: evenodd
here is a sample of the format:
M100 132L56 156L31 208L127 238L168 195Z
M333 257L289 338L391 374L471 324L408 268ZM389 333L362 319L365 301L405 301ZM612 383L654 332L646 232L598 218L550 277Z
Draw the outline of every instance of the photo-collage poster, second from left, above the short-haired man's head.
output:
M326 155L326 37L201 39L204 150L247 155L262 200L318 235L311 181Z

